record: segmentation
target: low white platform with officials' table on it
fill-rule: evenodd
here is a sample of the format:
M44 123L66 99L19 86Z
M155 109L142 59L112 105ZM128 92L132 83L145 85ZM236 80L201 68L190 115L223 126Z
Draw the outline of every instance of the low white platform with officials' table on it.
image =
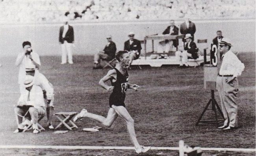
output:
M131 65L150 65L151 67L161 67L162 65L179 65L175 56L169 56L170 53L156 53L154 51L154 40L177 40L184 38L184 35L150 35L144 38L145 56L140 56L139 59L134 60ZM152 51L147 52L147 40L152 40ZM182 45L184 46L184 45ZM178 45L176 46L178 51ZM207 61L210 61L210 56L206 56ZM196 60L189 59L189 66L198 66L204 62L204 56L199 56Z

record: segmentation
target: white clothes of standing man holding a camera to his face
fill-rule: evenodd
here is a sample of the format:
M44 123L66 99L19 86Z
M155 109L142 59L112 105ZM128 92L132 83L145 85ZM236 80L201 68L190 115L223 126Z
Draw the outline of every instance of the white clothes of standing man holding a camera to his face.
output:
M30 53L30 55L32 56L33 60L37 64L41 65L40 58L39 58L39 55L37 53L32 52L32 53ZM18 57L17 57L17 60L19 60L23 56L24 56L24 52L19 53ZM18 83L23 84L24 81L25 81L25 76L26 76L25 69L26 68L35 68L35 65L33 64L32 60L29 58L29 56L25 55L24 58L22 59L21 63L19 64L19 66L20 66L20 69L19 69ZM36 69L35 72L38 72L38 70Z

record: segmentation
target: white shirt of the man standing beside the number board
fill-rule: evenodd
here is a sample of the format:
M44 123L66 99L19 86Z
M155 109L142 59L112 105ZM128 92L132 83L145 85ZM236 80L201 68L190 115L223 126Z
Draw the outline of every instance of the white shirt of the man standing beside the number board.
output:
M236 54L229 50L222 56L223 60L219 70L220 75L233 75L233 77L237 77L242 74L245 65L237 58Z

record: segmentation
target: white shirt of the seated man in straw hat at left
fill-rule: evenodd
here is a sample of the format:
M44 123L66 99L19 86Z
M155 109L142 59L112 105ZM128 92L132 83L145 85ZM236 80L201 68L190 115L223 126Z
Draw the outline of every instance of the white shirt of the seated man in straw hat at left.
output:
M18 105L19 103L22 103L22 105L32 105L35 108L45 107L43 91L41 87L38 85L33 85L30 91L26 89L26 91L20 94Z

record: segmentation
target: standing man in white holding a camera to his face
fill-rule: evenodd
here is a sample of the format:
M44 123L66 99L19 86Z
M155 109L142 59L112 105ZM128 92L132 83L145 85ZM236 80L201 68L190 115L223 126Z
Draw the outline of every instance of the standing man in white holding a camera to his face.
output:
M18 54L15 65L19 66L19 78L18 83L20 85L20 93L25 91L24 80L26 76L27 69L35 69L35 72L38 72L38 69L41 65L39 55L32 51L31 43L25 41L22 43L23 51Z

